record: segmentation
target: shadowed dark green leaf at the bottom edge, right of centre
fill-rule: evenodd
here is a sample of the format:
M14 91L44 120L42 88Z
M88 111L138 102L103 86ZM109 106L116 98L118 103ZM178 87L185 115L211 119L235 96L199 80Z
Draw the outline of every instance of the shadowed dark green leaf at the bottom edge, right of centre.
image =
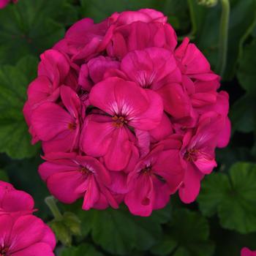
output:
M208 222L199 213L179 209L174 212L168 227L164 239L151 249L154 255L213 255L214 244L208 241Z

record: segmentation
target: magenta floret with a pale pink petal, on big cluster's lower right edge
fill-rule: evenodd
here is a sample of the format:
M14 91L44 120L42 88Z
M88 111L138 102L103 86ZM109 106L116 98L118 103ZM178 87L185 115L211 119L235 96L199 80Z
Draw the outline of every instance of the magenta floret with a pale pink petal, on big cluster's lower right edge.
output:
M187 171L183 186L179 189L179 196L184 203L195 200L200 190L200 180L217 166L214 150L221 127L221 116L209 112L200 117L195 134L189 131L184 135L181 155L187 162Z

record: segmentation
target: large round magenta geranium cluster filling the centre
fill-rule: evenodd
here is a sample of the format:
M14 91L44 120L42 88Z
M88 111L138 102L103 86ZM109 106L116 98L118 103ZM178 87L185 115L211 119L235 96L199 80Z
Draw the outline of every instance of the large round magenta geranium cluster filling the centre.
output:
M148 216L184 203L230 138L228 95L203 53L162 12L75 23L41 55L23 112L45 153L39 174L61 202Z

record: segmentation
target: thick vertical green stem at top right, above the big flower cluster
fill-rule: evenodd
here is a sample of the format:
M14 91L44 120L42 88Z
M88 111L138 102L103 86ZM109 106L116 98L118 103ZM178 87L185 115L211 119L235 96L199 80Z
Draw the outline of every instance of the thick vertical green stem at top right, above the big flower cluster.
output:
M228 24L230 20L230 2L229 0L220 0L222 4L222 16L219 26L219 59L217 63L217 73L223 75L227 63L227 40Z

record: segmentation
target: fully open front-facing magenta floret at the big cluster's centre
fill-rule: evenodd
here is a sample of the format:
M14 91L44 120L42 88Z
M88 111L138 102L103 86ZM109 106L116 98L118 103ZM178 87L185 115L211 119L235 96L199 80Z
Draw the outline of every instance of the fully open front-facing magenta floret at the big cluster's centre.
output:
M129 162L135 140L129 127L142 130L157 127L162 119L162 99L135 83L108 78L91 89L90 102L104 112L87 117L81 148L93 157L104 157L108 169L122 170Z

